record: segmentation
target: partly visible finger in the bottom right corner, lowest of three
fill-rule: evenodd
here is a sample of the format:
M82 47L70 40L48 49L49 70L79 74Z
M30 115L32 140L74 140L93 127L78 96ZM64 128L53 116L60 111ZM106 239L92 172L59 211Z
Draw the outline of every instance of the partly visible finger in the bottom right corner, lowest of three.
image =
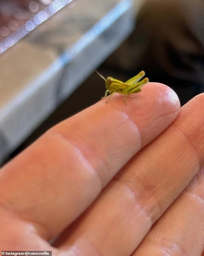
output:
M144 238L133 256L193 255L204 250L204 169Z

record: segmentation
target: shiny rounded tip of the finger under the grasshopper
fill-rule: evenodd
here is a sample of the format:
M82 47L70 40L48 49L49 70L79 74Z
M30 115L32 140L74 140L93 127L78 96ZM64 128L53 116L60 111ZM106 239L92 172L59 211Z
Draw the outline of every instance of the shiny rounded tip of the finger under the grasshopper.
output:
M133 96L133 97L130 97ZM180 101L177 94L168 86L149 82L139 93L127 96L126 105L124 103L124 95L114 94L111 99L104 104L106 111L111 111L114 107L123 111L133 120L138 127L142 146L158 136L165 128L167 128L180 112Z

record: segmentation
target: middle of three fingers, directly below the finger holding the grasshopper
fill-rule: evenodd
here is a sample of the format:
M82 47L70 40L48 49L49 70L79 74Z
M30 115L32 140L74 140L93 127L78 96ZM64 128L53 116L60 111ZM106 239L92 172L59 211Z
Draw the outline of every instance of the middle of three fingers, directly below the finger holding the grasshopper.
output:
M130 255L203 165L203 99L204 94L183 106L172 125L128 162L55 246L77 248L84 256Z

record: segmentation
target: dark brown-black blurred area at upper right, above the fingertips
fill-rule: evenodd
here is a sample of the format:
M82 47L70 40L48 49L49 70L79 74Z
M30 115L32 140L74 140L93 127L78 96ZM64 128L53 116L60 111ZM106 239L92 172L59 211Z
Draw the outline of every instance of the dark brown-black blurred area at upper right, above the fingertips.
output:
M134 33L106 61L129 77L145 70L178 94L181 105L204 92L204 1L146 0Z

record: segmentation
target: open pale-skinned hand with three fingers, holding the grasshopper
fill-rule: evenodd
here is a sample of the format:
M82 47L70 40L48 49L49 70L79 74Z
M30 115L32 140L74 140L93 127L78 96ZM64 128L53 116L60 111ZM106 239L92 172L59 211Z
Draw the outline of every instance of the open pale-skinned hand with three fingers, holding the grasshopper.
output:
M148 83L127 106L105 102L1 169L1 250L204 256L204 94L180 109Z

